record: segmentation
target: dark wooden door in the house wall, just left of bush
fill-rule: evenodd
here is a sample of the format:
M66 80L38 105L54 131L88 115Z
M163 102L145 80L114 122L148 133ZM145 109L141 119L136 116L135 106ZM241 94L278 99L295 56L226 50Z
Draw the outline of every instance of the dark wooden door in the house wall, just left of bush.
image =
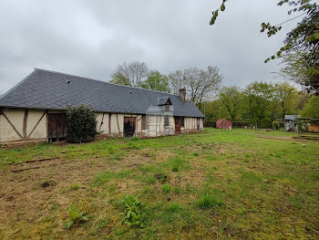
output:
M65 114L48 114L48 139L61 141L67 137L67 121Z

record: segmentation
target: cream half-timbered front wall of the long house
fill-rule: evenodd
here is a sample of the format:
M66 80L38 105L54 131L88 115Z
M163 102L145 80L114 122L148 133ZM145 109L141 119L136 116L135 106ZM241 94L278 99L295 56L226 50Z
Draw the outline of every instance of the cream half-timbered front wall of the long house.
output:
M64 110L25 110L2 109L0 111L0 142L43 140L47 141L48 114L62 114ZM144 125L142 118L144 116ZM165 125L164 116L119 114L108 112L96 112L97 131L100 136L108 138L124 137L124 118L136 118L135 136L158 137L175 134L174 117L170 116L170 124ZM200 119L200 130L203 122ZM197 118L184 118L184 127L180 126L180 133L196 132Z

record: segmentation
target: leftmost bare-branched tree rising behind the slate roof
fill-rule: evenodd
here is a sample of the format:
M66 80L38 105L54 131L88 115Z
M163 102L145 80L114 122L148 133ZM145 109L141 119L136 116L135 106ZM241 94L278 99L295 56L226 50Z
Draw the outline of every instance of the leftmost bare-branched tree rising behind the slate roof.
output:
M149 75L149 68L146 63L134 61L129 65L124 62L118 65L115 72L111 75L111 83L139 87L144 78Z

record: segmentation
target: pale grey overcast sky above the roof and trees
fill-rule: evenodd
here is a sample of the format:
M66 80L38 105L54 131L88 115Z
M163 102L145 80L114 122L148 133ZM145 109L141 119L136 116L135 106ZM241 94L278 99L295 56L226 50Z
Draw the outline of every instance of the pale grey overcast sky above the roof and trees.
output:
M277 2L230 0L209 26L221 0L0 0L0 94L33 68L108 81L134 60L164 74L217 66L228 86L274 82L278 61L263 60L296 23L271 38L260 33L263 21L289 18Z

